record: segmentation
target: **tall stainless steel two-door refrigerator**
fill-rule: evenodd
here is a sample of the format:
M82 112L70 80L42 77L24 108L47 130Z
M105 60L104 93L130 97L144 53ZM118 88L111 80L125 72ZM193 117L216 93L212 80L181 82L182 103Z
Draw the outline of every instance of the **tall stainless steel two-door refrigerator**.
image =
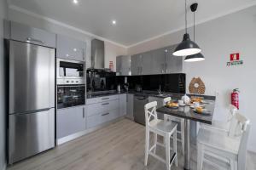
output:
M8 41L9 164L55 146L55 48Z

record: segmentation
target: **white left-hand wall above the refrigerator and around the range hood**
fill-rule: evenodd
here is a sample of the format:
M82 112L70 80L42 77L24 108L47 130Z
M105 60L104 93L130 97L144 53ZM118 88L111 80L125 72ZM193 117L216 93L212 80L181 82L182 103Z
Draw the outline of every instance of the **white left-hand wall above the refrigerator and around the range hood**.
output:
M44 16L43 16L44 18ZM55 32L58 34L63 34L68 37L73 37L79 40L86 42L87 50L86 50L86 66L90 67L91 55L90 55L90 41L94 37L85 34L81 31L75 31L73 29L67 28L65 26L61 26L58 24L58 21L50 22L48 20L44 20L42 18L38 18L36 16L32 16L30 14L24 14L14 9L9 8L9 20L14 20L20 23L24 23L28 26L33 26L37 28L44 29L46 31ZM61 23L62 24L62 23ZM105 41L105 67L109 68L109 61L113 60L113 70L115 71L115 57L117 55L127 54L127 50L124 47L113 44L112 42Z

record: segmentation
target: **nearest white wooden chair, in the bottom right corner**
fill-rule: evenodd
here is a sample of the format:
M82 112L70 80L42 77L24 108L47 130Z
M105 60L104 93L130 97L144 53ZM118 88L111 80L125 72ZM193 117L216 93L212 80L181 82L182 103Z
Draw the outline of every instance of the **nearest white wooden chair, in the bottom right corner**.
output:
M197 137L197 170L202 169L203 161L218 168L245 170L249 130L249 121L239 113L233 116L228 135L201 128ZM214 159L209 160L209 156Z

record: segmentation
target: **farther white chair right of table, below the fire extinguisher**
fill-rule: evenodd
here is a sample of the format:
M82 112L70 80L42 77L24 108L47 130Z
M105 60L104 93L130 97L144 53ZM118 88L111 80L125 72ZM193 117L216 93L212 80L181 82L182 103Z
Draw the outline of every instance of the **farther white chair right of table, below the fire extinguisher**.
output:
M201 128L207 128L209 130L221 130L221 131L229 131L229 127L230 127L230 121L232 119L233 116L235 116L237 111L236 106L234 105L230 105L230 111L229 111L229 117L228 117L228 121L227 122L220 122L220 121L212 121L212 125L208 125L205 123L200 123L200 127Z

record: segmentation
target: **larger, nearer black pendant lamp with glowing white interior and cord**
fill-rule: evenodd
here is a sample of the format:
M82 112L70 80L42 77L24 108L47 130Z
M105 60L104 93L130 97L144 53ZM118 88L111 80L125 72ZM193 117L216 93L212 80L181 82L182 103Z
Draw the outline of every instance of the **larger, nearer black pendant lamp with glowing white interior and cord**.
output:
M193 54L199 54L201 52L201 48L190 40L188 34L188 26L187 26L187 0L185 0L185 22L186 22L186 33L183 35L183 41L180 42L175 49L173 55L175 56L187 56Z

